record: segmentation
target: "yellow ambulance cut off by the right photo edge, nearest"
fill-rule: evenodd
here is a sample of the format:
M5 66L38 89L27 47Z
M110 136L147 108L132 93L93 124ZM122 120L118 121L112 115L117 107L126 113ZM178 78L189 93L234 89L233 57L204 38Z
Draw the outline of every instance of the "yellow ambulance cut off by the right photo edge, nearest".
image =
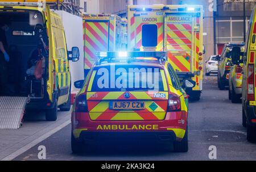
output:
M256 94L255 94L255 50L256 50L256 9L250 18L243 56L242 78L242 124L247 127L247 140L256 141Z

